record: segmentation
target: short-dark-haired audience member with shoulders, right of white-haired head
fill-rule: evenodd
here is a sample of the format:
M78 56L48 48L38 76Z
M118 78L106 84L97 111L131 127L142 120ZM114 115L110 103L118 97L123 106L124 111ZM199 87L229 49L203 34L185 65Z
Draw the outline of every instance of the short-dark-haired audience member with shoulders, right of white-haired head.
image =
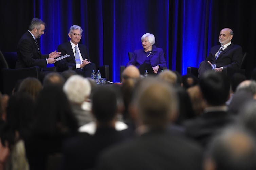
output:
M80 135L65 143L63 169L94 168L100 152L124 140L115 130L117 95L114 90L109 87L98 87L95 90L92 97L92 114L96 118L95 134Z

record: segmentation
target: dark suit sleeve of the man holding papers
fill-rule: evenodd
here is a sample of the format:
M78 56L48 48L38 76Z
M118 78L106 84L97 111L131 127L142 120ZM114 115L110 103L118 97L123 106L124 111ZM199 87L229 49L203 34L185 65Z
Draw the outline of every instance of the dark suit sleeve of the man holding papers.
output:
M25 67L32 67L32 66L46 67L45 58L49 58L49 55L48 57L47 55L42 56L37 51L35 51L33 41L29 39L23 39L19 43L17 51L20 59L25 64ZM41 58L38 58L37 56L41 56Z

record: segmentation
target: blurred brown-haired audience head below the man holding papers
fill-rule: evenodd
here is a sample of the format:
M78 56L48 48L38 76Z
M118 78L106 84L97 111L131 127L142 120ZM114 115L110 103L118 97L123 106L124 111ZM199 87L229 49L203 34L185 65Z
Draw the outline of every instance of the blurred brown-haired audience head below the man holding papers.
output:
M37 78L28 77L20 83L18 92L28 93L35 100L42 88L42 83Z

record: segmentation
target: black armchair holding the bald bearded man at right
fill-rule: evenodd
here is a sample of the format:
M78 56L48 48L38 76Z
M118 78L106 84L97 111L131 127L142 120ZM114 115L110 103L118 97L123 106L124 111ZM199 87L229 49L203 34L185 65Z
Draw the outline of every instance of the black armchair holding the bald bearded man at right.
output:
M231 67L223 67L222 73L227 75L227 76L232 76L235 73L241 73L243 75L245 75L245 62L247 61L248 58L248 53L244 52L243 53L243 58L242 58L242 62L241 62L241 67L239 69L234 69ZM198 77L198 68L197 67L187 67L187 74L193 74L194 76ZM246 75L245 75L246 76Z

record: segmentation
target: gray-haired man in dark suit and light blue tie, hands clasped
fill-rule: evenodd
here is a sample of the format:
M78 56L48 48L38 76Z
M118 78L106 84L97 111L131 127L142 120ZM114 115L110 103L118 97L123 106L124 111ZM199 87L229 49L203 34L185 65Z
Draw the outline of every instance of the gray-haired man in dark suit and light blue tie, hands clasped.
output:
M72 67L78 74L84 77L90 77L92 70L96 72L96 66L91 63L88 56L87 47L83 44L78 44L82 37L82 28L78 25L73 25L69 30L70 42L63 43L58 46L58 51L62 55L68 54L70 57L64 58L57 62L57 67L60 70L67 70Z

